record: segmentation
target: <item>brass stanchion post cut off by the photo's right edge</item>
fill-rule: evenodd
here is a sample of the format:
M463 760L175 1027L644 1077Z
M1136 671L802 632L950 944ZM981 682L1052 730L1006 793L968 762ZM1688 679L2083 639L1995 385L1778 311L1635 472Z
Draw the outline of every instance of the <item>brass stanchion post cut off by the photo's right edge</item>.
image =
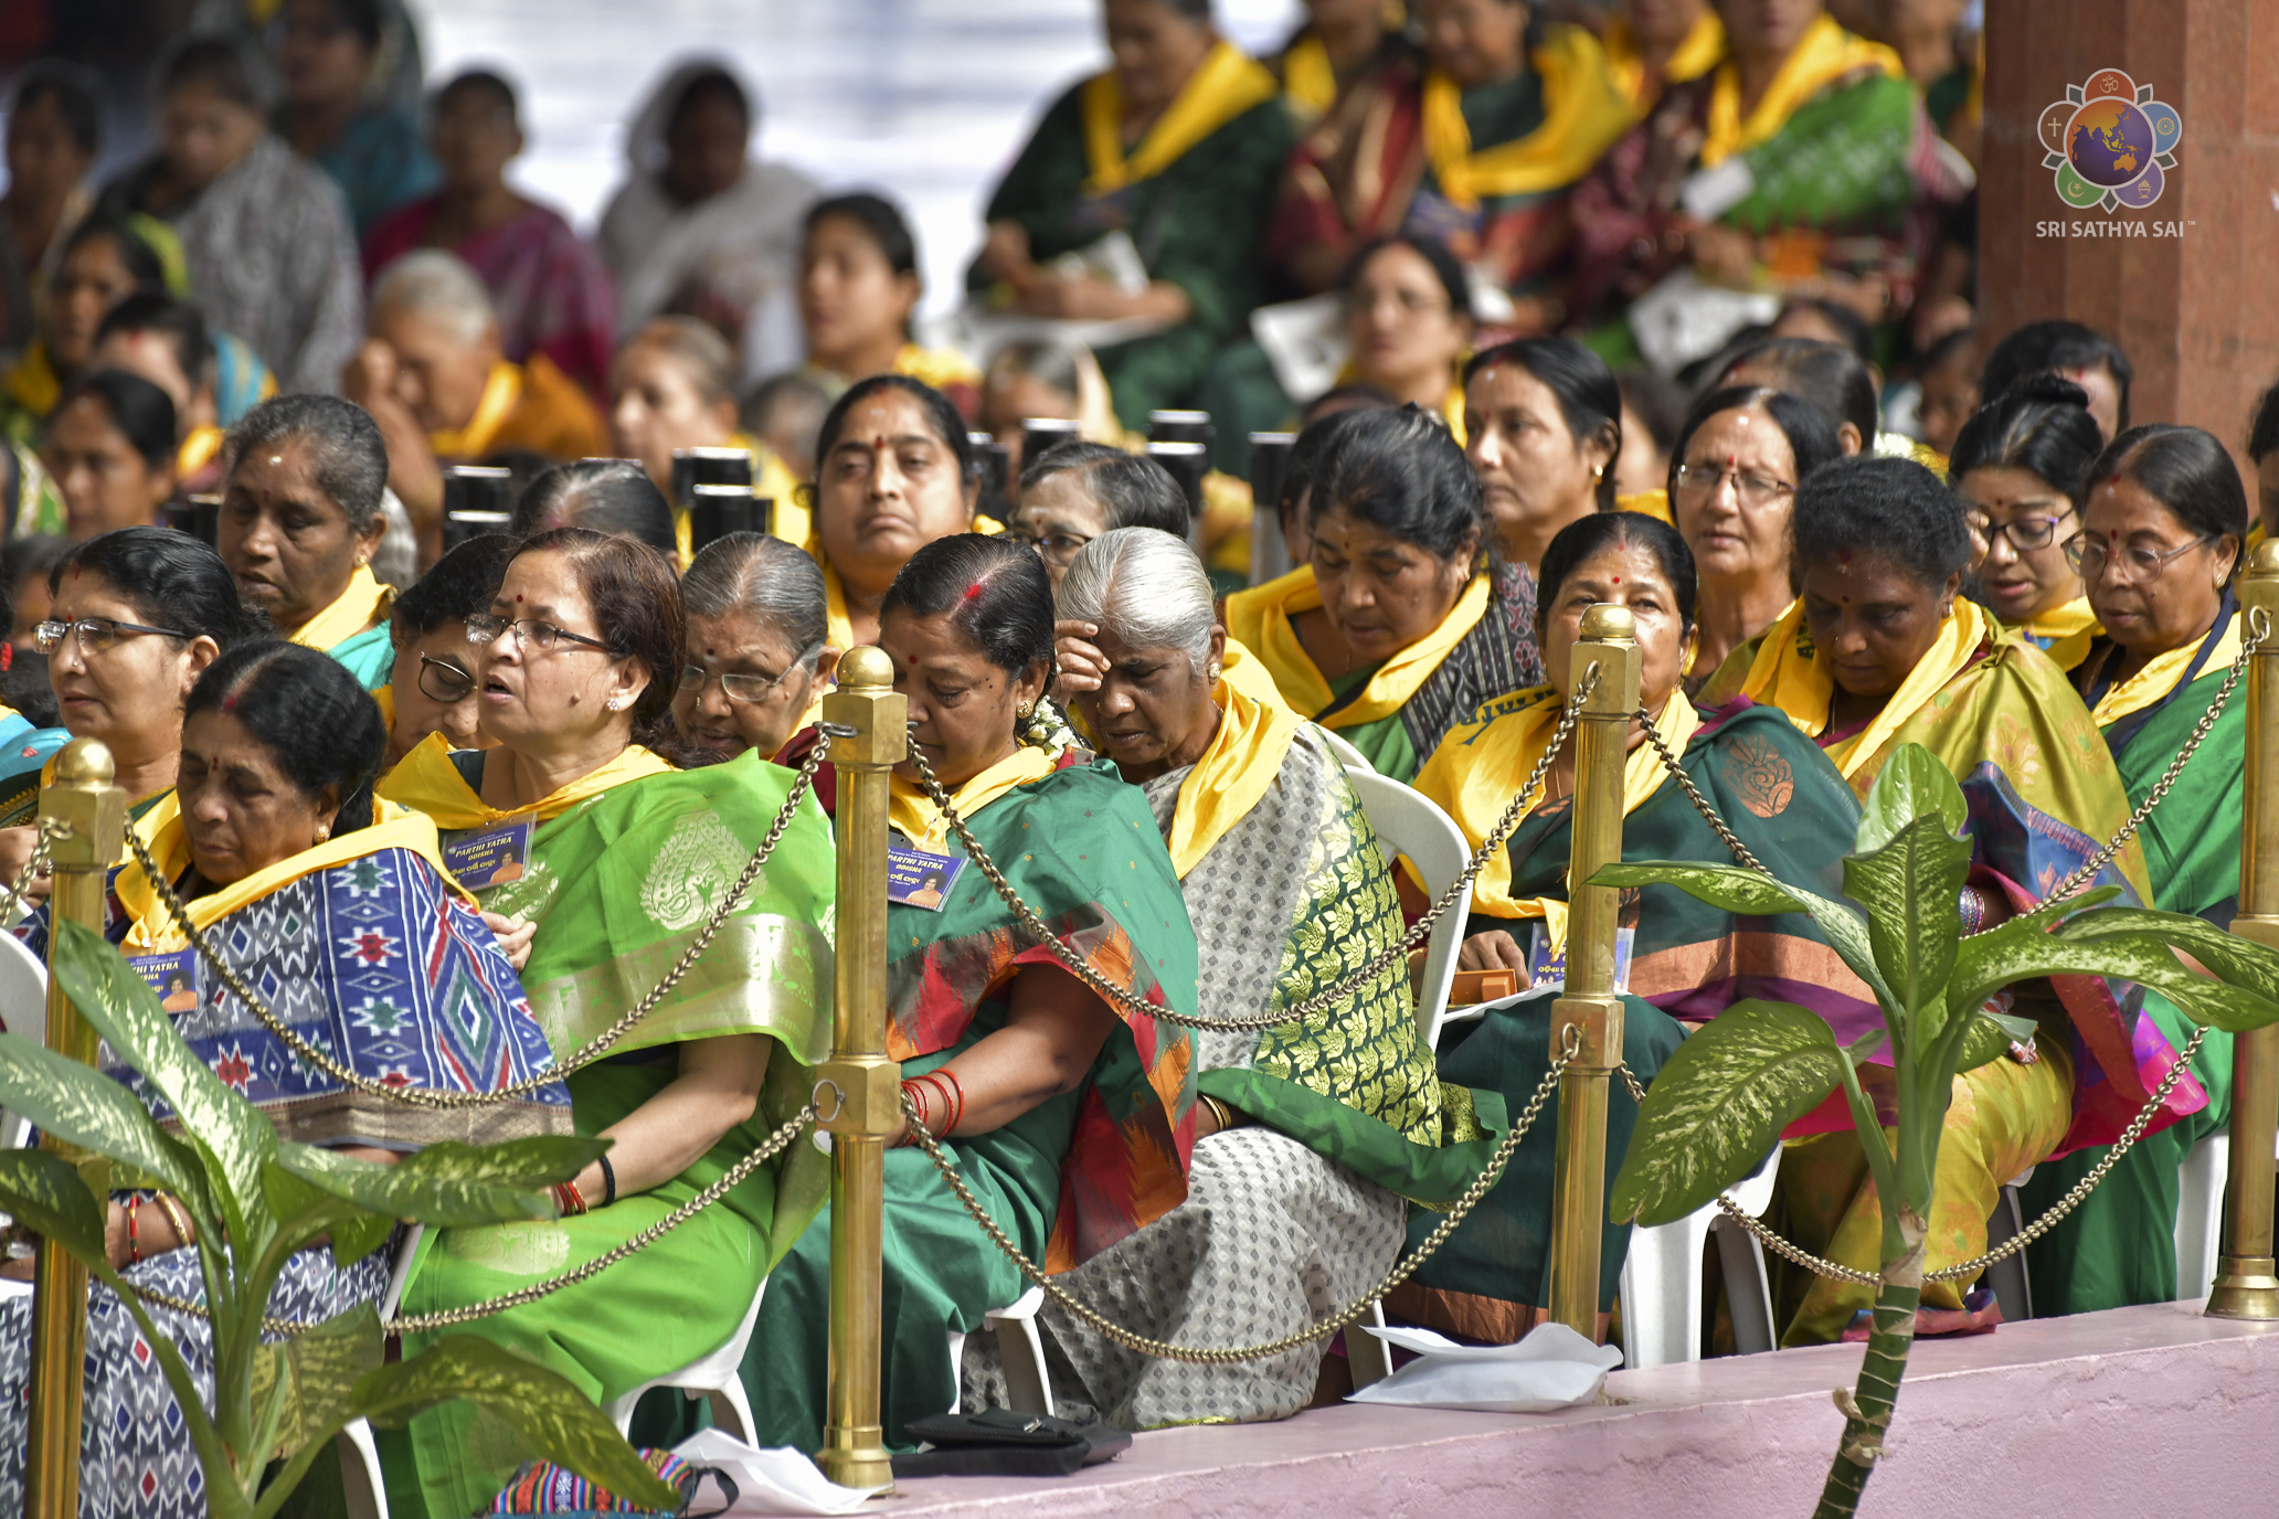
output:
M2256 549L2240 610L2272 619L2247 660L2247 777L2240 806L2240 915L2231 931L2279 950L2279 542ZM2224 1250L2208 1291L2213 1319L2279 1319L2272 1273L2272 1139L2279 1132L2279 1027L2231 1041L2231 1180ZM2195 1282L2186 1282L2190 1291Z

